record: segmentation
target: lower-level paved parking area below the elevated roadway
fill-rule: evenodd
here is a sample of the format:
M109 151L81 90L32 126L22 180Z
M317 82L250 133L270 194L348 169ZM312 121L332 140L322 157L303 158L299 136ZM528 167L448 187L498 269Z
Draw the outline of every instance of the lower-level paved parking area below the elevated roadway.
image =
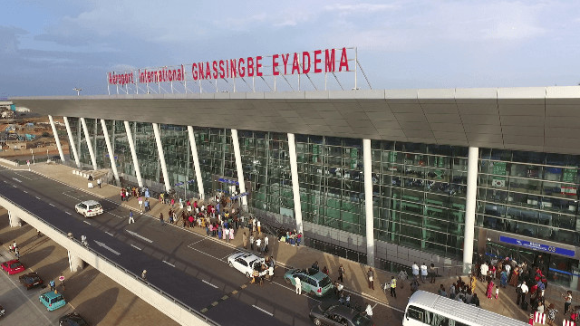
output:
M69 270L67 251L46 236L39 236L30 225L9 227L8 216L0 208L0 261L14 259L8 245L16 241L20 248L21 262L26 271L41 275L44 285L26 290L19 283L23 273L0 275L0 305L5 316L2 325L57 325L61 316L79 312L90 325L178 325L149 303L124 289L91 266L79 273ZM63 274L65 288L58 277ZM39 302L39 295L50 290L48 283L54 280L57 291L63 294L67 304L54 312L48 312Z

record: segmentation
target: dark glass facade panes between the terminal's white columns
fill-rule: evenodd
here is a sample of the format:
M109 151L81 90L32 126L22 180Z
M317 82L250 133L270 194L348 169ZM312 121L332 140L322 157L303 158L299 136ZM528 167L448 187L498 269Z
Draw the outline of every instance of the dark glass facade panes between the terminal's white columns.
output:
M79 157L90 165L80 120L70 123ZM110 168L100 120L86 123L99 168ZM106 124L119 172L135 176L123 121ZM143 179L162 184L152 125L130 126ZM229 193L235 182L228 181L237 181L231 129L195 127L194 134L206 195ZM160 135L169 183L178 194L185 186L175 184L186 183L197 195L187 127L160 124ZM250 211L294 216L287 135L238 130L238 139ZM365 235L362 139L296 134L295 141L303 220ZM461 260L468 148L384 140L371 147L375 239ZM580 245L579 168L580 156L479 149L475 247L480 228ZM513 248L502 248L513 255ZM556 256L549 264L578 267Z

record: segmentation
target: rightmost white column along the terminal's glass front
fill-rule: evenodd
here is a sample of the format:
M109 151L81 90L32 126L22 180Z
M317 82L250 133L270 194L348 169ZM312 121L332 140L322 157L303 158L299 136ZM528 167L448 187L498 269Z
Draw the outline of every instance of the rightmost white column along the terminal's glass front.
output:
M478 193L479 148L469 147L468 192L465 198L465 233L463 234L463 273L471 273L473 237L475 234L475 206Z

